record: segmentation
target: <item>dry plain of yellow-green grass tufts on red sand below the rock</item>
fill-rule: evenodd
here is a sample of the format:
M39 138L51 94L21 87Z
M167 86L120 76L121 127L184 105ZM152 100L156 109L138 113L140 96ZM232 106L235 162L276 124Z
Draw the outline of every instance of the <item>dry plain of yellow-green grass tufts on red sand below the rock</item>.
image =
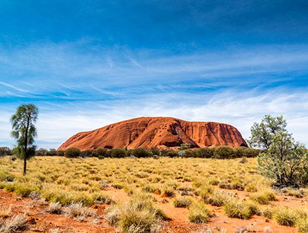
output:
M183 210L184 221L197 226L219 228L221 217L243 221L237 222L242 226L258 216L269 227L308 228L307 189L273 189L272 181L256 171L256 158L47 156L32 158L25 176L18 160L1 157L0 164L1 189L45 201L45 213L104 219L123 232L163 231L178 210ZM292 198L297 201L285 201ZM5 229L16 217L9 204L0 206L0 232L10 232ZM97 213L93 205L104 205L104 211Z

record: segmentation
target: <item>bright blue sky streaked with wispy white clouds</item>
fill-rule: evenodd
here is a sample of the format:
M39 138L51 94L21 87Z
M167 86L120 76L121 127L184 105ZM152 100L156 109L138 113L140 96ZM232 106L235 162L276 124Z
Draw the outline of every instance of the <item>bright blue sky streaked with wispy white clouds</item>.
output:
M0 1L0 146L40 109L37 145L142 116L244 138L283 114L308 145L307 1Z

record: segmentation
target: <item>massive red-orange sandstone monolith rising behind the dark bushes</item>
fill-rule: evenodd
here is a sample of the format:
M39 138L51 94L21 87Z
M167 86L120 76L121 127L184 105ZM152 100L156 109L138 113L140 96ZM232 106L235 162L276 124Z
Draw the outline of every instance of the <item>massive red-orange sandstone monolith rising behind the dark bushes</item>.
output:
M79 148L174 148L182 143L191 148L247 146L241 133L228 124L183 121L172 117L140 117L121 121L69 138L58 150Z

